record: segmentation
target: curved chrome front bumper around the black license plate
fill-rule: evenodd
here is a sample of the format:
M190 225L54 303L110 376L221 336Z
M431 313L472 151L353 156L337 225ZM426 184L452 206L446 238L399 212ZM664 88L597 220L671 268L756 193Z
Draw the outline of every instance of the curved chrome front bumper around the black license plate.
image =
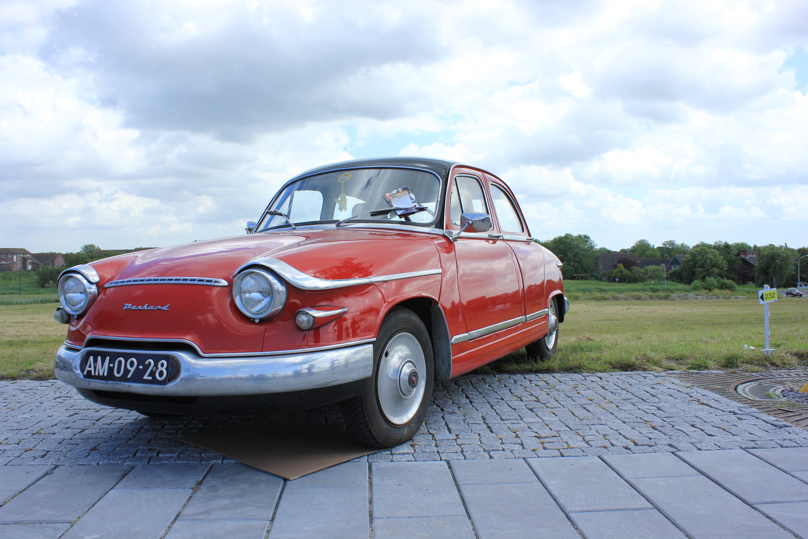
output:
M110 355L135 352L122 348L90 348ZM124 391L144 395L203 397L285 393L345 384L370 377L373 373L372 344L288 356L211 358L184 350L151 351L169 354L179 360L179 375L168 385L88 380L82 377L79 370L82 352L84 350L65 345L59 347L54 366L59 380L88 390Z

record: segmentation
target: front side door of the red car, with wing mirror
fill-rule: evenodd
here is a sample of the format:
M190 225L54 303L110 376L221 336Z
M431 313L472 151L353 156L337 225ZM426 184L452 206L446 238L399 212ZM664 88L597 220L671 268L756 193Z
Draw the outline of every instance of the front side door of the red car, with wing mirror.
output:
M461 213L490 213L483 178L477 171L461 171L452 178L448 229L459 229ZM524 299L516 257L495 230L461 233L454 249L466 334L453 335L452 343L469 342L462 351L484 346L496 339L487 335L519 324Z

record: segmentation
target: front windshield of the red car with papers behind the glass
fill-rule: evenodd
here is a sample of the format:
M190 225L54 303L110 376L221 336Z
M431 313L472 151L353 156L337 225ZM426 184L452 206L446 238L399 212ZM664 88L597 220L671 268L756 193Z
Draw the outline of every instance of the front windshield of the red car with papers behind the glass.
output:
M424 209L398 216L395 212L371 216L372 210L390 208L385 195L406 187ZM290 183L269 208L288 215L295 225L323 221L382 221L428 225L436 221L440 196L440 180L426 171L402 168L365 168L326 172ZM364 215L362 215L364 213ZM277 226L288 226L278 215L264 214L255 228L261 232Z

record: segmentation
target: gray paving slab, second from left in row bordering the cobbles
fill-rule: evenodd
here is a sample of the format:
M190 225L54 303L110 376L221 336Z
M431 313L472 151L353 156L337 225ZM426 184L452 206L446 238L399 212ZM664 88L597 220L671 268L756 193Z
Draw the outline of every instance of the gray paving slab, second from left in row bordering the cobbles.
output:
M59 467L0 507L0 523L71 522L128 470L128 466Z

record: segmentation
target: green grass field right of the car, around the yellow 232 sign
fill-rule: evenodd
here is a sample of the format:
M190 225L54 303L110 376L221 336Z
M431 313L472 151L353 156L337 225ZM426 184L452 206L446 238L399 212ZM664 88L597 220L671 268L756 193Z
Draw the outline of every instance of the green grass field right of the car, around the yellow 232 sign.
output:
M524 349L478 373L613 372L689 368L760 372L808 365L808 301L771 305L770 356L763 306L754 300L578 301L561 325L558 352L548 361ZM743 345L754 346L754 352Z

